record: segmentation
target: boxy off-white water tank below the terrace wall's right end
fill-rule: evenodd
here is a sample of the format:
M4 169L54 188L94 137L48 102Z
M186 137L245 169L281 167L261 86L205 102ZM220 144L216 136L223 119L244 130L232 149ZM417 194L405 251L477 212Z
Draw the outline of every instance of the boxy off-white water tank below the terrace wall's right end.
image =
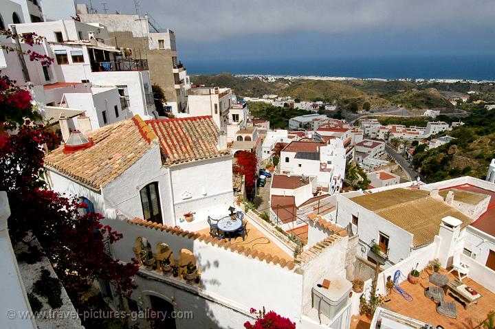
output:
M328 288L325 288L323 281L329 280ZM321 282L316 282L313 286L313 308L328 319L333 319L345 306L349 300L352 284L344 277L325 277Z

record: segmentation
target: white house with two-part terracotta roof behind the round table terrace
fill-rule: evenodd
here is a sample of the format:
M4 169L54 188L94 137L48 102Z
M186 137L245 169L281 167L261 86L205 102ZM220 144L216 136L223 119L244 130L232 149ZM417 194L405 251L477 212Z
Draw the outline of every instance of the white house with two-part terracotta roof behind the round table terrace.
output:
M89 137L94 145L86 150L65 154L61 147L47 155L47 179L57 191L84 196L105 216L115 209L190 227L233 202L232 155L217 149L210 117L144 122L136 115ZM181 223L187 212L200 219Z

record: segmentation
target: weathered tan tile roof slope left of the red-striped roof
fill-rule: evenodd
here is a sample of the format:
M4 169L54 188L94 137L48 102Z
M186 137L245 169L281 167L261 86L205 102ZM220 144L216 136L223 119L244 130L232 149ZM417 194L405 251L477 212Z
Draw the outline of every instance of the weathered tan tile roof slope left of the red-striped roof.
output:
M61 146L45 157L45 165L97 190L119 177L153 147L151 139L142 135L142 122L136 115L132 120L104 126L88 134L94 141L90 148L64 154Z

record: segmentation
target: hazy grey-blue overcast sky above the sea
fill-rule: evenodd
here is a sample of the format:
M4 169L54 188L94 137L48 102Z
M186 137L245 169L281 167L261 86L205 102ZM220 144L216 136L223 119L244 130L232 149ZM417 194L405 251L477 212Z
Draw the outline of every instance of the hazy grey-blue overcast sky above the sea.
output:
M184 60L495 55L495 0L140 0L145 12Z

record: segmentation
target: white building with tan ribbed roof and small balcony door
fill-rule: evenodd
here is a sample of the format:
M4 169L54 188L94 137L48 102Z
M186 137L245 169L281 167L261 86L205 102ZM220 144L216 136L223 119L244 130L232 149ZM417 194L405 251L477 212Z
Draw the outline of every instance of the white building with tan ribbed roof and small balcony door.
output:
M445 203L438 191L418 190L415 186L361 196L350 194L349 198L346 195L337 196L337 224L351 225L360 239L358 254L385 264L385 268L430 245L435 236L452 233L450 220L445 217L453 218L457 235L472 222Z

